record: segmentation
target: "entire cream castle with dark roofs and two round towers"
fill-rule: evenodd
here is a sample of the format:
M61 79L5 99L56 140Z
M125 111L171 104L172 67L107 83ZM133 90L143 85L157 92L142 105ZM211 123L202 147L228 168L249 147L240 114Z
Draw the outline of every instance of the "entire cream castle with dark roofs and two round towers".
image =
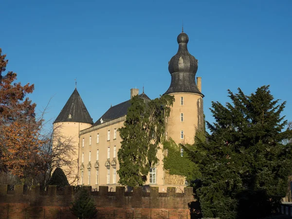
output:
M196 131L203 126L201 77L197 78L196 83L198 60L189 54L188 40L188 36L183 32L177 37L179 49L169 61L171 83L164 93L175 97L170 115L165 119L165 138L171 138L177 144L193 144ZM139 90L131 89L130 98L135 95L139 95ZM144 91L139 97L150 99ZM76 161L76 184L92 187L108 185L113 188L119 185L117 152L122 139L118 129L124 126L129 106L130 100L112 106L93 123L78 91L73 91L54 126L61 127L64 136L74 139L76 156L72 159ZM183 189L184 177L170 175L164 170L162 150L158 151L157 158L159 163L150 168L146 185L159 186L160 191L170 185Z

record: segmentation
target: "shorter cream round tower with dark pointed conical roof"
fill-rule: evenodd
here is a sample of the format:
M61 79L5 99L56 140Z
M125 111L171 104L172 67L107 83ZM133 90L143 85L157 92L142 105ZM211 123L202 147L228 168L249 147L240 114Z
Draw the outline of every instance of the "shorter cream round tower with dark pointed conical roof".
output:
M63 144L63 146L74 147L74 154L69 158L73 161L74 165L62 166L61 164L60 166L67 175L69 183L77 184L79 170L79 131L91 127L92 124L92 118L75 88L60 114L54 121L53 146Z

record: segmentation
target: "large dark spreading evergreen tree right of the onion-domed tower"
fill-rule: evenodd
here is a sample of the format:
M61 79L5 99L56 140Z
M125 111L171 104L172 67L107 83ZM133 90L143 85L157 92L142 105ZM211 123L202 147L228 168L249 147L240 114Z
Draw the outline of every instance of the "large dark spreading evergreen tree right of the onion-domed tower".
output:
M199 164L195 183L204 217L261 218L276 211L292 170L292 131L281 113L285 102L263 86L251 95L228 91L232 103L212 102L206 140L196 137L189 154ZM187 147L185 148L188 149Z

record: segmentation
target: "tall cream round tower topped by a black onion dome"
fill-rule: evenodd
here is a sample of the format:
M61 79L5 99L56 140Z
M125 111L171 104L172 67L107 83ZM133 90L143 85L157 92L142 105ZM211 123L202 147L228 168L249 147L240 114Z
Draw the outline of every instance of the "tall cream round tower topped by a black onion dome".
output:
M197 78L196 84L198 60L189 54L188 40L183 32L177 38L179 50L169 61L171 83L164 93L175 97L170 115L165 121L165 135L177 144L193 144L196 131L203 127L201 77Z

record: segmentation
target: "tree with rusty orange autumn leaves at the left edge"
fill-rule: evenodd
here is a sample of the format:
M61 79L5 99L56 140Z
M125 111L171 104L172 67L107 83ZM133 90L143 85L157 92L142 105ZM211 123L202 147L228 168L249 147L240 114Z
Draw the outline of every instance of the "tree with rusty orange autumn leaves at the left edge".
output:
M22 86L12 71L4 75L8 64L5 57L0 49L0 172L25 178L39 162L42 121L36 119L36 104L26 97L34 91L34 85Z

